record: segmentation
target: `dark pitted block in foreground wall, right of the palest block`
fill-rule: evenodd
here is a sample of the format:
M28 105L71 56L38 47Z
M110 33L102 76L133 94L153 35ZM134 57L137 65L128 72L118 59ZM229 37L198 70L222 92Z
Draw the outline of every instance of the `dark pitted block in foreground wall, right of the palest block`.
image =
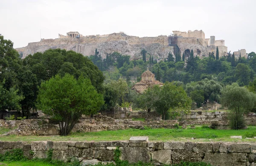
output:
M204 153L190 152L187 150L172 150L172 162L180 163L181 161L198 162L202 161Z

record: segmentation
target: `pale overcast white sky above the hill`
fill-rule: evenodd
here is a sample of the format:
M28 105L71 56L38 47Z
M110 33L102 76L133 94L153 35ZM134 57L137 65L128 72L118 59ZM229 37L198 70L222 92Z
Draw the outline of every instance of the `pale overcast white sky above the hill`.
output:
M14 48L79 31L155 37L203 30L228 51L256 52L256 0L0 0L0 34Z

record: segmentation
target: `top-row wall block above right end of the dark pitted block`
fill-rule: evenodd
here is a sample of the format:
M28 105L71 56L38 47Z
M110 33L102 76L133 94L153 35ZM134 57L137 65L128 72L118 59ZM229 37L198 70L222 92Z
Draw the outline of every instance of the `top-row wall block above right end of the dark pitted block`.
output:
M187 151L193 151L193 152L212 152L212 145L211 143L188 142L185 144L185 149Z

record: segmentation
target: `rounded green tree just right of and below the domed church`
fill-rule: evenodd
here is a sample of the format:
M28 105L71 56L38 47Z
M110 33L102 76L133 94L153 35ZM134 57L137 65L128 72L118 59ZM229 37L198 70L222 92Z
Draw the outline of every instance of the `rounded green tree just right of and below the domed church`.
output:
M163 120L168 111L190 109L191 99L181 86L166 82L162 87L154 86L154 88L158 89L154 91L157 92L155 95L158 96L154 100L154 109L162 114Z

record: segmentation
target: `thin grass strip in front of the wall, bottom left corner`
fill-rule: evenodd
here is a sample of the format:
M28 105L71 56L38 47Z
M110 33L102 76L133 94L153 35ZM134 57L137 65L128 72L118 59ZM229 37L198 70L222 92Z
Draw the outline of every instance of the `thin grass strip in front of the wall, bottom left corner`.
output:
M39 161L15 161L15 162L0 162L0 166L54 166L46 162Z

